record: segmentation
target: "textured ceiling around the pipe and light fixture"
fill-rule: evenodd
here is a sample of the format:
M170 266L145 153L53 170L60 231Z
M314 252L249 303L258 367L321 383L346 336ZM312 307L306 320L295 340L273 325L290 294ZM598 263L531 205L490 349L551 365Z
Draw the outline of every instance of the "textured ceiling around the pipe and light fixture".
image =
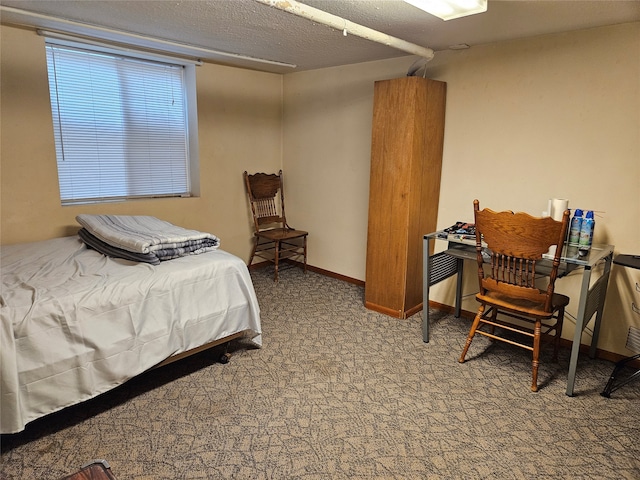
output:
M486 13L443 21L402 0L307 0L306 5L405 41L445 50L541 34L640 21L640 1L498 1ZM0 0L2 23L86 33L97 26L218 52L197 55L244 68L287 73L408 55L255 0ZM98 33L92 35L100 36ZM142 39L144 40L144 39ZM165 44L163 49L176 50Z

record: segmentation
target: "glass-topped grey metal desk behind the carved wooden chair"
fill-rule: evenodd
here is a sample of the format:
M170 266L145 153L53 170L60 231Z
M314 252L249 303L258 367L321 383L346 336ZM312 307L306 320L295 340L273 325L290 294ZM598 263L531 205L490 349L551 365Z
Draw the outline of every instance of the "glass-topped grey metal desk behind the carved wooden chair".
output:
M448 249L430 255L432 242L443 240L449 242ZM609 272L611 271L611 261L613 259L613 245L592 245L589 254L579 257L575 247L565 245L561 258L558 276L564 276L572 270L582 268L582 286L580 288L580 298L578 299L578 314L576 316L575 332L573 334L573 345L569 360L569 374L567 376L567 395L573 396L573 387L578 367L578 353L580 352L580 342L582 332L596 314L593 327L593 336L589 348L589 356L594 358L596 347L598 346L598 335L600 334L600 324L602 323L602 311L604 309L604 299L607 294L609 283ZM429 342L429 288L442 280L455 274L457 277L455 316L460 316L462 300L462 273L464 271L464 260L476 261L475 238L461 238L447 235L443 232L434 232L424 235L423 239L423 281L422 281L422 339ZM543 260L547 261L546 259ZM591 283L591 273L593 269L604 262L602 275ZM548 260L549 266L551 260Z

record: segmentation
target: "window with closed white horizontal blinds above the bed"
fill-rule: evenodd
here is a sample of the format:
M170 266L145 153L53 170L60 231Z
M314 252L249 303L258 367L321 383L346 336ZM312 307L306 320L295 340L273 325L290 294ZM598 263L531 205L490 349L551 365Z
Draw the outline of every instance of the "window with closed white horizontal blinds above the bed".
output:
M191 195L194 65L50 40L46 51L63 204Z

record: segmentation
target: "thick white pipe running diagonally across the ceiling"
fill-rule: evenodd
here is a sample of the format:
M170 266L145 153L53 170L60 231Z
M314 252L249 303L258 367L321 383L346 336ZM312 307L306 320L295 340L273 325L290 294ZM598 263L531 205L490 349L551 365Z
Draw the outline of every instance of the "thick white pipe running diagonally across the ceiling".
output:
M356 35L357 37L371 40L372 42L381 43L388 47L397 48L412 55L418 55L428 60L433 58L434 52L427 47L421 47L414 43L407 42L400 38L392 37L386 33L378 32L369 27L353 23L345 18L338 17L331 13L319 10L314 7L305 5L304 3L297 2L295 0L255 0L256 2L275 7L279 10L292 13L299 17L312 20L314 22L321 23L323 25L333 27L345 33Z

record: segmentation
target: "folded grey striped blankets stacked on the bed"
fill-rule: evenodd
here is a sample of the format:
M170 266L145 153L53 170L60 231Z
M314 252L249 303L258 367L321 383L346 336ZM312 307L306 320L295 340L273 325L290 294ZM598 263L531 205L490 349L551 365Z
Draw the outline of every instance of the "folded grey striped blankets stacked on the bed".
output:
M78 232L80 238L91 248L112 257L156 264L220 246L215 235L151 216L81 214L76 220L84 227Z

